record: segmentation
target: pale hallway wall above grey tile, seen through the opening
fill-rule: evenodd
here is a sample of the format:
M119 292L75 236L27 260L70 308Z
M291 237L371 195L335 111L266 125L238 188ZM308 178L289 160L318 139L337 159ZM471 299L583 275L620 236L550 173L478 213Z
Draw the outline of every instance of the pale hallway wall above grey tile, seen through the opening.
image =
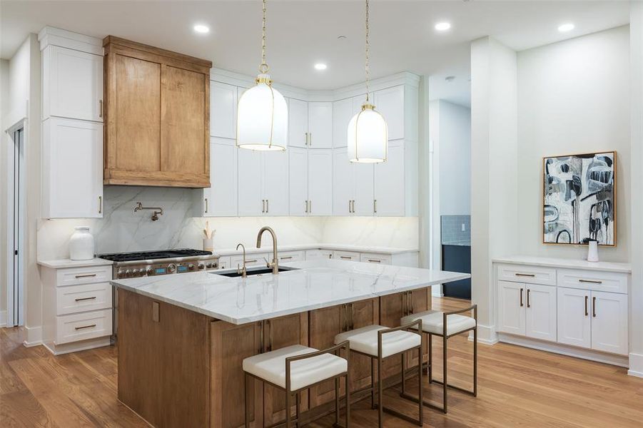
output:
M440 215L471 213L471 110L444 100L431 102L437 116L434 150L439 153ZM430 122L432 123L432 121Z

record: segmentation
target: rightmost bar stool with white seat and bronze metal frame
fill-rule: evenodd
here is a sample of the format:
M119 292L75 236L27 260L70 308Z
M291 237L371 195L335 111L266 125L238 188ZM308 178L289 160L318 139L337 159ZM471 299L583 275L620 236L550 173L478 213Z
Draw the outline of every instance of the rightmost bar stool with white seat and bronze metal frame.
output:
M473 317L460 315L463 312L473 311ZM417 314L407 315L402 317L402 324L422 320L422 332L427 333L429 339L429 362L427 367L429 383L437 383L442 385L442 407L425 401L424 404L433 409L442 410L447 412L447 389L455 389L465 394L470 394L477 397L477 305L467 307L462 310L455 310L452 312L440 312L437 310L427 310L425 312L418 312ZM447 381L447 355L448 346L447 342L450 337L460 335L464 332L473 330L473 390L463 389L449 384ZM432 337L442 337L442 382L432 378ZM407 397L412 398L412 397Z

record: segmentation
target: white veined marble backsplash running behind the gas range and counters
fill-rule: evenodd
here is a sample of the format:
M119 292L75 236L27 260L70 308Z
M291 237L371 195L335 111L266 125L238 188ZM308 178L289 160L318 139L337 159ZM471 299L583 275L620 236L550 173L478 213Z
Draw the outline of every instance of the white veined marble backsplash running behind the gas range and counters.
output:
M206 221L216 229L215 250L253 247L258 230L269 225L280 245L337 243L385 247L418 247L418 220L373 217L193 217L195 190L136 186L105 186L103 218L39 220L38 258L69 257L69 237L75 226L88 226L96 253L202 248ZM152 221L150 210L133 212L136 203L160 206L163 215Z

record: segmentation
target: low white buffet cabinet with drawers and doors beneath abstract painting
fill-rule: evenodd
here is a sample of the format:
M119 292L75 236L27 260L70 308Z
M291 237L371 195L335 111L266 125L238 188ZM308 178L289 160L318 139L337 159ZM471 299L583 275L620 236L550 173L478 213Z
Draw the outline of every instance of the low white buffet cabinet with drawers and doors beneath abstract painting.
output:
M495 263L500 340L619 364L604 353L628 353L629 272L622 265Z

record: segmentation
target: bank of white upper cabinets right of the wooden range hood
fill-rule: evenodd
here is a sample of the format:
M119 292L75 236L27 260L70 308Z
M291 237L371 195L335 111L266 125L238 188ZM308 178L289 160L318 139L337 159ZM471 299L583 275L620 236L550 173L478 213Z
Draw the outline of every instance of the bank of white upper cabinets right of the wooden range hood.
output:
M387 162L378 165L348 161L348 122L365 94L280 88L288 150L259 153L236 148L236 106L249 83L228 72L213 78L212 185L195 190L195 215L417 215L417 76L400 73L373 85L370 99L389 130ZM324 101L306 101L315 97Z

